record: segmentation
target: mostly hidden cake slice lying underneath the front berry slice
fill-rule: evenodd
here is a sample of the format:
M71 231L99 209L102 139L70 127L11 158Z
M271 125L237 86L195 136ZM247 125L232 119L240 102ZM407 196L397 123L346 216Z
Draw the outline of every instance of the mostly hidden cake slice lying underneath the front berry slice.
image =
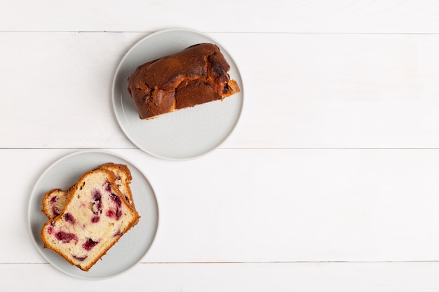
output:
M130 190L130 183L132 180L130 169L126 165L106 163L97 167L97 169L103 168L112 171L116 175L116 186L121 190L121 193L125 195L125 198L129 204L134 206L133 195ZM62 209L64 209L65 204L69 200L69 190L66 192L55 188L54 190L48 191L42 200L41 211L47 216L47 218L53 218L61 214Z

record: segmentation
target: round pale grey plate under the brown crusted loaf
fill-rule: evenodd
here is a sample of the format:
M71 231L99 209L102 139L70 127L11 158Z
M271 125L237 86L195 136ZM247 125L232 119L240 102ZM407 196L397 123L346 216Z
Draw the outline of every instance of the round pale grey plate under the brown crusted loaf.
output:
M229 75L241 92L222 101L142 120L128 93L127 78L146 62L177 53L196 43L215 43L230 64ZM243 109L243 81L234 59L210 36L189 29L167 29L149 34L123 57L113 83L113 106L123 132L137 147L159 158L187 160L222 144L238 123Z

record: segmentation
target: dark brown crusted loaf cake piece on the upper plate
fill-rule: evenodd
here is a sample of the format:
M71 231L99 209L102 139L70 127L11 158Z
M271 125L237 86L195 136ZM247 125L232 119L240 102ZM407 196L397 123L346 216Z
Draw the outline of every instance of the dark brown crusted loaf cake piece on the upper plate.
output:
M128 92L140 118L150 119L239 92L229 70L216 45L199 43L137 67L128 77Z

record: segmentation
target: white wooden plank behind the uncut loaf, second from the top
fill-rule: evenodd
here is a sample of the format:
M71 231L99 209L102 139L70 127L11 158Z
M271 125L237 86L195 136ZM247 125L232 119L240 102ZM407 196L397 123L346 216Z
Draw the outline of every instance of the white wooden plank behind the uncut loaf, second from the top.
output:
M111 89L121 58L146 35L0 32L0 147L134 148ZM245 84L224 148L439 147L439 35L212 36Z

